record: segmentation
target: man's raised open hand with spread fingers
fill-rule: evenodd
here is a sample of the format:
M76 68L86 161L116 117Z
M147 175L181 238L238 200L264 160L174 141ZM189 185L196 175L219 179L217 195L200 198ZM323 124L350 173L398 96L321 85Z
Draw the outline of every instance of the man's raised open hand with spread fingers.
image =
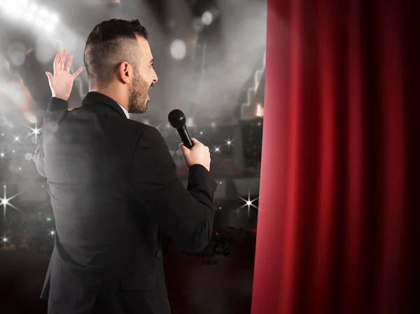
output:
M48 83L50 83L52 97L61 98L62 100L69 100L71 89L75 78L83 71L83 67L78 68L76 72L70 74L71 62L73 62L73 55L70 55L66 62L67 50L64 53L61 51L57 53L54 59L54 76L50 72L45 72L48 76Z

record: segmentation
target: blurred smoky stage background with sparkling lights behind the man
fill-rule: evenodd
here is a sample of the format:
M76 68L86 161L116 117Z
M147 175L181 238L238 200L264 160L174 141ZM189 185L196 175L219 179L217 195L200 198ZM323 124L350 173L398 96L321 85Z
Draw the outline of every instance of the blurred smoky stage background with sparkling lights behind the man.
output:
M249 313L255 253L264 116L265 0L0 1L0 313L46 313L38 299L54 241L45 179L32 161L42 128L57 50L73 70L94 25L139 19L150 34L160 78L146 114L167 140L186 183L179 137L167 114L181 109L188 128L211 149L219 182L214 235L200 254L165 238L173 313ZM85 71L70 107L87 93Z

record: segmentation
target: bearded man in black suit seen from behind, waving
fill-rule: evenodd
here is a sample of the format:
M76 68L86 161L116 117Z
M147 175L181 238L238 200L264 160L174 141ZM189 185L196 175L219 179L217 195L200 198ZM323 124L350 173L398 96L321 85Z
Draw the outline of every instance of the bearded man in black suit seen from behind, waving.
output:
M158 82L148 34L138 20L94 27L85 47L89 89L67 110L70 55L57 53L36 168L48 179L56 233L41 298L48 313L171 313L160 228L181 247L211 237L216 182L209 148L180 144L188 188L155 128L128 119L147 110Z

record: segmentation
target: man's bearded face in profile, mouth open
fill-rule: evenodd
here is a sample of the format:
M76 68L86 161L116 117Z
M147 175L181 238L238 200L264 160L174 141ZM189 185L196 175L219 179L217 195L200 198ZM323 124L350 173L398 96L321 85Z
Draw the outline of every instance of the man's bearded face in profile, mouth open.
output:
M143 37L137 38L139 43L139 64L134 68L134 78L132 87L130 88L130 96L128 101L128 112L132 114L144 114L148 107L150 97L148 91L153 84L158 82L158 76L153 69L153 56L151 48Z

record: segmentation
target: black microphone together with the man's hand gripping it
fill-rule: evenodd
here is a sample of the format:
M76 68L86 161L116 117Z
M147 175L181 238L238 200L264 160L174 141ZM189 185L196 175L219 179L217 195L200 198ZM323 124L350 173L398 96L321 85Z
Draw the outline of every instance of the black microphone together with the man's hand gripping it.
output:
M204 146L200 141L190 137L190 133L186 127L186 116L179 109L174 109L169 113L169 123L178 131L182 143L179 144L179 149L183 156L184 163L187 169L192 165L203 165L210 171L210 151L209 147Z

